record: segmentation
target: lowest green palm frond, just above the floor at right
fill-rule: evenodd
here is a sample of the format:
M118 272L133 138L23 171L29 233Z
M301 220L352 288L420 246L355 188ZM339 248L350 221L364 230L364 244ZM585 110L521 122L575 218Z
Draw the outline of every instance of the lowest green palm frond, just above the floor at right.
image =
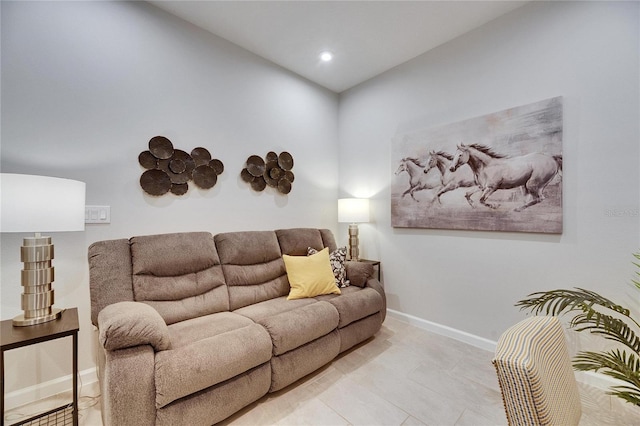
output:
M573 368L579 371L600 371L629 384L612 386L610 395L640 406L640 358L618 349L603 353L580 352L573 359Z

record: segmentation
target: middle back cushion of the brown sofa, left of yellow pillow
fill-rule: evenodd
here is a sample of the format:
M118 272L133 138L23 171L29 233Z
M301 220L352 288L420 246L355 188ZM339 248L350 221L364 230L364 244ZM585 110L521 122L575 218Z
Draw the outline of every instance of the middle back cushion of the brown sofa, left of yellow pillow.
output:
M231 310L289 294L275 232L227 232L214 239L229 288Z

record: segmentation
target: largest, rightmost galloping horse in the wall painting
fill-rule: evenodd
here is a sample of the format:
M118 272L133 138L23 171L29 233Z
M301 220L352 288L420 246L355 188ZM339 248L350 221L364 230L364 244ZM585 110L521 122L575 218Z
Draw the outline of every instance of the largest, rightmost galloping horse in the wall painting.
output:
M485 145L458 145L449 170L455 171L463 164L468 164L476 176L482 195L480 203L495 209L496 204L487 202L487 198L498 189L523 187L531 200L515 209L519 212L544 199L543 191L551 180L562 170L562 156L550 156L541 152L508 157L497 154ZM476 191L477 192L477 191ZM469 204L470 192L466 195Z

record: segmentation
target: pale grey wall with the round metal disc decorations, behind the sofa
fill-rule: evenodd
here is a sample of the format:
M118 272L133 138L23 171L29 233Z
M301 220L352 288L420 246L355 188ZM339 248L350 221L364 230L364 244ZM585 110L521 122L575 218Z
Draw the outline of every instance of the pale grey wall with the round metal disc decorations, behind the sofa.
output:
M2 172L78 179L110 225L52 235L56 306L79 307L94 366L87 247L150 233L336 229L336 94L143 2L2 2ZM138 154L156 135L225 165L208 191L151 197ZM287 196L239 179L251 154L289 151ZM2 319L20 310L19 246L2 234ZM70 374L70 343L8 352L6 389ZM61 353L61 354L60 354ZM22 359L24 358L24 361ZM36 365L33 368L33 365Z

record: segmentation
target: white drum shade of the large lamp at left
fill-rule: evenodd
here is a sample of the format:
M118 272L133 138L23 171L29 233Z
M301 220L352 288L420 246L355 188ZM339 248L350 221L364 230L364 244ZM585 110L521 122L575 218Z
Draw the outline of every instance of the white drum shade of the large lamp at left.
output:
M0 174L0 232L84 230L85 183Z

